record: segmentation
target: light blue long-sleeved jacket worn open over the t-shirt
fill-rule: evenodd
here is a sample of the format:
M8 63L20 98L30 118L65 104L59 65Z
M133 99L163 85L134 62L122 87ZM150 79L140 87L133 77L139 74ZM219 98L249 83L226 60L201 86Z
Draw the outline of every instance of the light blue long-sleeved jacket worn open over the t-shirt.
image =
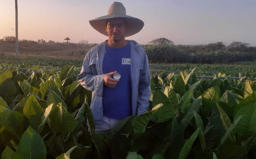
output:
M85 55L82 70L77 76L79 83L92 91L91 110L96 124L103 124L102 94L104 76L102 63L106 54L106 42L91 48ZM131 46L132 114L148 111L150 99L150 73L148 56L139 43L129 40Z

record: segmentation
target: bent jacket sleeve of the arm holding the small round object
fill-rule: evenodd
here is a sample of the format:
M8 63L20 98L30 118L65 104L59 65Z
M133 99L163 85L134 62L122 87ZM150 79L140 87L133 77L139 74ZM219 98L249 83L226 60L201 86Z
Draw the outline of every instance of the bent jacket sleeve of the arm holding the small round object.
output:
M87 90L102 96L104 77L106 74L96 75L96 70L92 71L92 63L90 63L91 51L85 55L83 66L79 75L77 75L77 81ZM95 64L95 63L94 63ZM96 67L95 67L96 68Z

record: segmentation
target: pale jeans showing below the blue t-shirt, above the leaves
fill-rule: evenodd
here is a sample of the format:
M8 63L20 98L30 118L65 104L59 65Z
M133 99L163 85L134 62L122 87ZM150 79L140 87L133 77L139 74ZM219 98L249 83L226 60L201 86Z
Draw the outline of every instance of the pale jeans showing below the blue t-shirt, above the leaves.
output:
M103 124L95 124L95 133L110 133L110 130L120 121L121 119L114 119L103 116ZM91 133L91 128L87 120L88 131Z

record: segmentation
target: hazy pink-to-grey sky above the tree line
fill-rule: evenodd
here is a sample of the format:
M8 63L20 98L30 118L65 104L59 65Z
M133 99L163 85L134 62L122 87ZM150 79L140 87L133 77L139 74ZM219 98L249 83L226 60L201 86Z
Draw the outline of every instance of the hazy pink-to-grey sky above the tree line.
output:
M110 0L18 0L19 40L55 42L108 39L89 20L107 15ZM126 14L144 21L130 37L140 44L165 37L175 44L198 45L223 41L256 46L255 0L119 0ZM14 29L14 30L12 30ZM15 36L15 0L0 1L0 39Z

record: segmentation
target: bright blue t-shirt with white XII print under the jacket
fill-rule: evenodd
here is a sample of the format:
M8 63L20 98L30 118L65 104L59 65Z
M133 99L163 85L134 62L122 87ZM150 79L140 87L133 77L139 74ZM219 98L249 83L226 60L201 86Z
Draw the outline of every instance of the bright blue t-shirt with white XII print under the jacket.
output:
M102 98L103 115L110 118L123 119L132 115L131 47L129 42L122 48L111 48L106 45L106 52L102 65L103 73L117 71L121 74L121 78L114 88L104 85Z

